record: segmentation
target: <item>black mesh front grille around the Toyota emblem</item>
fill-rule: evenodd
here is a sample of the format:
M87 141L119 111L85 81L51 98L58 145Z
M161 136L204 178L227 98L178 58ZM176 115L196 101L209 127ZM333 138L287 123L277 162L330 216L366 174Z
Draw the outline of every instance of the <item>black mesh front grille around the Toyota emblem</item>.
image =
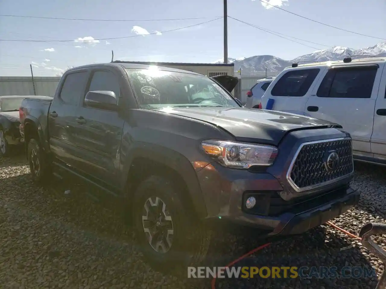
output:
M350 138L330 139L305 143L298 151L288 176L296 190L318 187L349 175L354 171ZM339 160L333 168L327 166L326 158L336 152Z

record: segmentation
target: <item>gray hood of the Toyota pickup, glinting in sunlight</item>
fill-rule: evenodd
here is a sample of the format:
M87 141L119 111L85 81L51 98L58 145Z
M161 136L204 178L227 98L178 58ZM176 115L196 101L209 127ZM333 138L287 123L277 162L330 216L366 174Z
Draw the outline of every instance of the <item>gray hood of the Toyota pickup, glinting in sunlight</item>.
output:
M281 113L279 111L247 108L164 108L164 113L198 119L218 126L239 141L278 145L286 133L295 129L337 127L316 118Z

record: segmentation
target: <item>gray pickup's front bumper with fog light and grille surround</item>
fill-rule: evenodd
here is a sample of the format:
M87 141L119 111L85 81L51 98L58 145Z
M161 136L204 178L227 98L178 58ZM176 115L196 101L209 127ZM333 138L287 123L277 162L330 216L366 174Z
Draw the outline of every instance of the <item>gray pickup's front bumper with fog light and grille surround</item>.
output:
M274 165L259 171L225 168L215 162L205 166L197 176L205 198L207 220L253 227L269 236L291 235L306 232L356 206L360 192L349 187L352 175L303 192L294 190L286 180L286 172L301 143L346 136L334 131L324 129L324 136L318 130L290 133L282 141ZM249 196L256 198L252 209L245 207Z

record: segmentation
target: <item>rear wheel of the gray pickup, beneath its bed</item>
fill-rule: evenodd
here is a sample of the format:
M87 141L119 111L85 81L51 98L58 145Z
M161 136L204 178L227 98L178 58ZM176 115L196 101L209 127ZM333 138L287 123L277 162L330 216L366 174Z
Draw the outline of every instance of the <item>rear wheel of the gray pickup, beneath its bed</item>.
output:
M31 178L35 183L46 183L49 180L50 172L46 155L36 139L30 139L27 148L27 157Z

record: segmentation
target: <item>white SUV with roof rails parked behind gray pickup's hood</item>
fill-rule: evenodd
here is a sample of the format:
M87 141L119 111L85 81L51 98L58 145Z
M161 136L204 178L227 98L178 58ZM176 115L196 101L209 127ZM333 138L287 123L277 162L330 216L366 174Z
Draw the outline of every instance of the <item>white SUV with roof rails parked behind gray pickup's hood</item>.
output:
M352 136L354 159L386 165L386 58L352 57L294 63L267 88L260 108L338 123Z

